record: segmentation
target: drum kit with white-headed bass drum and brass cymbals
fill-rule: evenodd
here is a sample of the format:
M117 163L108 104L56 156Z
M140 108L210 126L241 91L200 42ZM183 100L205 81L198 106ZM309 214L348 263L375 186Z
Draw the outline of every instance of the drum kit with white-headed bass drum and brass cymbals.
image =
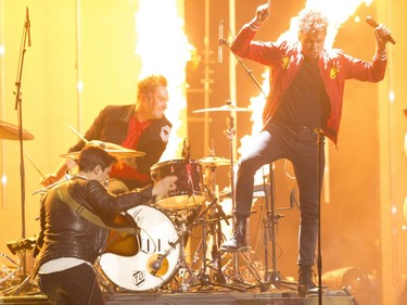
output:
M201 112L249 112L251 110L237 107L227 103L220 107L203 109ZM232 118L226 135L228 139L234 136ZM1 139L18 139L18 128L12 124L0 122ZM34 139L28 131L23 130L25 140ZM138 157L144 153L125 149L120 145L101 141L90 141L87 144L102 147L119 160ZM62 154L61 157L77 160L79 152ZM171 160L153 165L150 169L153 181L165 176L177 176L177 189L156 198L154 204L140 205L127 211L140 228L139 252L132 256L122 256L114 253L103 253L97 264L98 278L102 288L107 291L152 291L178 290L189 291L198 284L220 285L242 290L242 285L229 285L221 270L221 253L218 251L222 241L220 221L228 224L227 216L214 194L215 171L219 166L233 168L231 158L211 155L194 161L188 154L180 160ZM209 169L204 180L204 170ZM231 174L231 177L233 175ZM232 179L232 178L231 178ZM231 187L233 181L230 182ZM49 187L38 192L44 192ZM36 192L37 193L37 192ZM233 198L233 192L231 192ZM191 232L202 226L202 240L193 254L192 262L187 262L186 243ZM209 228L209 229L208 229ZM211 266L206 258L207 245L212 238L213 259ZM192 264L200 262L200 267ZM213 270L213 277L208 275Z

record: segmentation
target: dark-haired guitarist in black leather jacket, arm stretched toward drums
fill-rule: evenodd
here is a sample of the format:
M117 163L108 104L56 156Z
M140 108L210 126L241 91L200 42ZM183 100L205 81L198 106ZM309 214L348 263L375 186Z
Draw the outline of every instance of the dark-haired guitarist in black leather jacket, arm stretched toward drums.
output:
M78 174L49 189L42 198L42 242L37 243L36 272L41 291L53 305L105 304L92 266L111 245L109 228L117 217L125 217L123 212L176 189L177 177L167 176L154 186L115 195L103 185L115 163L116 158L102 148L87 145L78 158ZM74 211L72 202L80 208ZM84 217L84 209L102 225ZM126 229L137 233L133 226Z

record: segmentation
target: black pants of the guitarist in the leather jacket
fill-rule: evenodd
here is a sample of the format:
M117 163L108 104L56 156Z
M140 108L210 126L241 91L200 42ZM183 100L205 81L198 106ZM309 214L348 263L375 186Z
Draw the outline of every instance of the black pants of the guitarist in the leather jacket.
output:
M39 275L39 287L52 305L105 304L94 270L87 264Z

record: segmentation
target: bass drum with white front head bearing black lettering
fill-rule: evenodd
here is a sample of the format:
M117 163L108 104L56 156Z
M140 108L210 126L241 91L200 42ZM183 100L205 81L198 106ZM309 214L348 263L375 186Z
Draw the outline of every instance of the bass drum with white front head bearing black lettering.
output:
M133 256L101 255L99 265L105 277L120 289L148 291L165 284L177 270L181 256L178 232L170 218L148 205L127 213L140 228L140 251Z

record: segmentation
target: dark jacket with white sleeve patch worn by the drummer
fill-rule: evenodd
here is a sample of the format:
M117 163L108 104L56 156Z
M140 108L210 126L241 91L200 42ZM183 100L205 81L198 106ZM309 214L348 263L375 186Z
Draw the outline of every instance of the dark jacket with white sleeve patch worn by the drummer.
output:
M129 119L135 112L135 104L129 105L107 105L93 120L85 138L89 141L100 140L104 142L122 145L128 131ZM169 120L163 116L152 120L151 125L141 134L136 148L128 148L145 153L132 161L136 169L150 175L150 167L158 162L163 154L171 129ZM85 147L84 141L78 141L68 152L80 151ZM137 180L124 180L129 189L145 186Z

